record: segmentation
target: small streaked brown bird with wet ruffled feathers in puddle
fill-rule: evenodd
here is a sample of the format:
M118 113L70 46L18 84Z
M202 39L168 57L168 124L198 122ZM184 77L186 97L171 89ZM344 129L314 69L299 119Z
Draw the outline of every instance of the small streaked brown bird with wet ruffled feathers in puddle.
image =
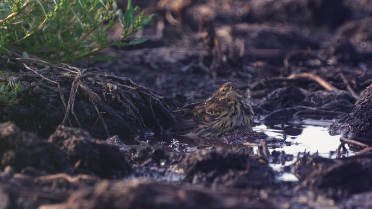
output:
M238 93L234 83L224 83L214 96L203 102L185 105L176 111L187 111L173 131L186 136L219 136L239 126L251 129L253 109Z

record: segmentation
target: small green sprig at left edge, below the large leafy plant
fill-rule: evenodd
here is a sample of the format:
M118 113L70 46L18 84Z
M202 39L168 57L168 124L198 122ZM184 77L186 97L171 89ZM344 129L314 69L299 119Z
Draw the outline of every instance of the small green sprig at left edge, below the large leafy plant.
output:
M18 103L18 93L24 91L25 89L21 87L21 82L18 83L10 79L9 83L0 83L0 102L5 105L13 106Z

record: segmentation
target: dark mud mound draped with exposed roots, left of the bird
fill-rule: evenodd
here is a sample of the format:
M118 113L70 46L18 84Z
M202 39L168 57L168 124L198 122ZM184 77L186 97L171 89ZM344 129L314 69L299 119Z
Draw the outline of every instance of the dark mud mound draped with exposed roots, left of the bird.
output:
M45 61L18 59L16 63L22 66L20 72L5 72L0 81L21 81L25 91L15 106L0 103L0 120L12 120L22 130L48 137L62 124L82 127L99 139L111 134L126 138L160 133L175 122L170 113L177 106L174 100L129 78Z

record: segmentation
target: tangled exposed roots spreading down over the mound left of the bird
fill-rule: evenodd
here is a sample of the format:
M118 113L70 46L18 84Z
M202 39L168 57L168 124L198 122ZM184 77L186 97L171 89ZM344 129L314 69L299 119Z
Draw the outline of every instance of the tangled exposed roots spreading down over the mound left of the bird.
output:
M45 120L47 126L51 127L51 131L54 131L58 125L68 123L70 126L78 126L95 132L92 134L96 138L103 138L106 135L110 136L110 133L119 134L119 132L130 135L138 132L145 134L144 131L150 131L150 129L160 133L163 131L163 126L169 128L176 122L170 112L171 109L179 106L176 101L147 87L137 86L129 78L107 74L96 68L82 70L67 64L49 66L48 62L36 59L19 59L19 61L29 71L22 72L17 77L18 80L22 80L23 85L29 86L26 89L33 91L35 83L31 85L32 82L41 79L48 81L47 84L36 82L38 88L36 95L32 92L29 95L33 95L35 102L42 96L44 103L38 107L47 106L47 109L43 109L47 111L38 115L38 121L41 120L43 123L43 117L48 117L48 115L52 115L52 118L61 118L62 121L55 121L57 124L53 122L51 124ZM43 66L42 69L39 65ZM47 66L44 67L45 65ZM68 91L70 91L69 96L66 94ZM55 92L59 93L62 102L54 99ZM63 111L59 105L61 103L64 106L64 112L61 112ZM92 122L92 116L96 112L102 122L99 128L94 128ZM101 112L107 114L102 115ZM71 115L74 118L72 120ZM45 128L45 124L39 126Z

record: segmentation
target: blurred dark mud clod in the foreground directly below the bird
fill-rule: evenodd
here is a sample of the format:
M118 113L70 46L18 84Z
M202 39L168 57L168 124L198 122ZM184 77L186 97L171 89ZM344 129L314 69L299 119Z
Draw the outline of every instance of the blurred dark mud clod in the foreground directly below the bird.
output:
M197 150L186 155L182 166L184 181L207 186L263 187L274 180L269 165L229 149Z

